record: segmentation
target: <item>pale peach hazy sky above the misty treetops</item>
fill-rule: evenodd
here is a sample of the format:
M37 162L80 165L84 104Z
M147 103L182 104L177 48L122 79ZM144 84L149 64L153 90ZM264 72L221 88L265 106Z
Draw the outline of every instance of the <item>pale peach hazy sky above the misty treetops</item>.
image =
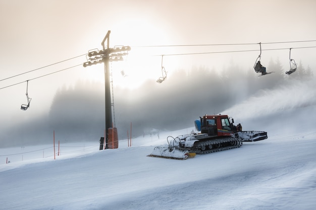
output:
M5 1L0 0L0 80L60 62L101 48L111 30L110 47L130 45L126 61L113 63L114 84L134 87L144 79L161 76L162 54L258 50L259 45L200 47L140 47L149 45L191 45L267 43L316 40L316 1ZM316 42L262 45L262 49L316 46ZM292 49L292 57L315 69L316 48ZM192 66L224 66L233 60L250 69L259 51L220 54L164 56L164 66L174 69ZM262 62L278 57L289 65L289 50L262 51ZM82 64L85 56L0 81L0 88ZM129 75L123 78L120 71ZM0 89L0 112L8 121L27 120L49 111L52 98L63 86L77 80L103 81L103 65L78 66L29 82L32 98L26 103L26 83ZM167 82L167 81L166 81ZM163 85L163 84L157 84ZM84 99L83 99L84 100Z

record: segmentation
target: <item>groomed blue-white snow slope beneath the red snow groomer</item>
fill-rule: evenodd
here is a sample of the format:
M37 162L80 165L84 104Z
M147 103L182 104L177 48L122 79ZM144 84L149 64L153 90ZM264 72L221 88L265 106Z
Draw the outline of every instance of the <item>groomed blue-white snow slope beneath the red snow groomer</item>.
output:
M252 112L257 100L242 110ZM247 118L234 108L222 112L235 112L244 130L267 131L268 139L187 160L147 155L194 127L140 136L132 147L123 140L119 149L62 143L58 155L56 144L56 160L52 145L2 148L0 209L315 209L316 105L314 97L305 102L286 110L276 102Z

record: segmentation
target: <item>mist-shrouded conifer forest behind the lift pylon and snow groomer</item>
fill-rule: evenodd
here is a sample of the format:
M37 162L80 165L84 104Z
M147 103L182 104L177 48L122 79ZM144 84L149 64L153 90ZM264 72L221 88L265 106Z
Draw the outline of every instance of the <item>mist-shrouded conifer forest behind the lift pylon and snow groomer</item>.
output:
M258 77L260 74L253 68L242 69L231 62L222 71L203 66L170 71L162 84L148 80L134 90L115 87L113 118L119 139L127 138L131 122L133 137L147 134L152 128L193 127L199 116L218 114L262 89L273 90L313 77L310 67L304 67L301 62L291 75L285 74L289 66L282 66L278 59L271 60L266 67L267 72L274 73ZM29 139L24 141L30 143L43 139L40 142L43 144L50 142L51 136L47 139L44 136L54 129L62 141L98 141L104 133L104 113L104 85L78 81L75 86L56 92L47 116L33 119L20 131L9 130L10 134L4 135L13 139L14 135L26 136Z

